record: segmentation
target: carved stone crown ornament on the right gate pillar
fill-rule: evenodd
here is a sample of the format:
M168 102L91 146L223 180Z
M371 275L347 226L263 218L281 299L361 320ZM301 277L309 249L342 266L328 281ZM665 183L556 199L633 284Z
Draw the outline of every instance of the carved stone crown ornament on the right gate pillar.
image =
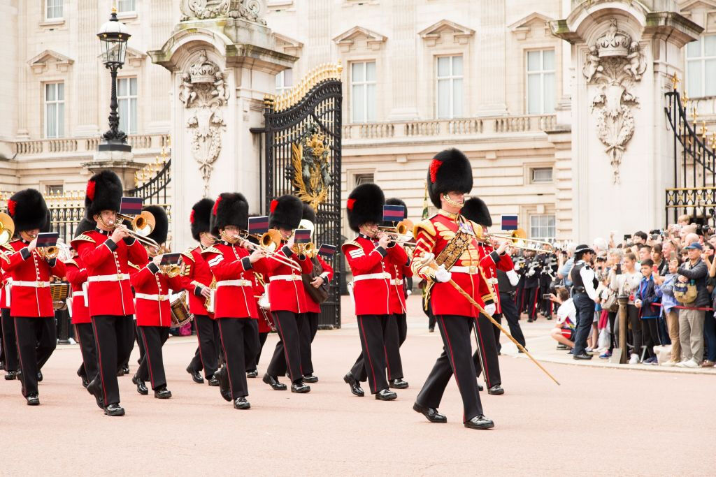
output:
M634 83L642 80L646 69L639 43L611 20L607 31L589 47L582 70L587 84L599 89L591 101L591 112L596 114L597 134L606 146L614 184L619 183L621 158L634 134L632 107L639 105Z

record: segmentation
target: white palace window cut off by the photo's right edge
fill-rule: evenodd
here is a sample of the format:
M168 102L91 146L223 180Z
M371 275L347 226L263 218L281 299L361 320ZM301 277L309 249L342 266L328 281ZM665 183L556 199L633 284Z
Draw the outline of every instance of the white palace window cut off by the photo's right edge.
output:
M716 96L716 35L686 44L686 92L690 97ZM709 79L711 78L711 79Z

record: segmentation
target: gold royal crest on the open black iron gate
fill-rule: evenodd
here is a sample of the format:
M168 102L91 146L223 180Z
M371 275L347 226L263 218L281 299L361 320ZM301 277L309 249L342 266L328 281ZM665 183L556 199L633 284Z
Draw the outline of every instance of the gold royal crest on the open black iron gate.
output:
M317 124L310 124L297 143L291 144L296 196L314 210L326 201L333 178L329 170L329 142Z

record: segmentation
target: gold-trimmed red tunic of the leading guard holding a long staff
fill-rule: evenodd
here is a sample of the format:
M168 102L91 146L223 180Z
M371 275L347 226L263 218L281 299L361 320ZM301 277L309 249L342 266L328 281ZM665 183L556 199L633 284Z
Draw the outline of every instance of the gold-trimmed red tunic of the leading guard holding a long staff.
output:
M448 242L455 237L458 231L458 215L450 214L440 210L437 215L433 215L430 219L418 222L415 225L414 235L416 240L415 252L412 257L412 270L418 277L428 282L432 282L430 289L430 305L432 313L436 316L440 315L460 315L477 318L480 312L460 295L449 282L440 283L433 280L433 270L426 265L420 263L423 253L432 253L437 257L438 254L448 245ZM464 220L468 228L470 226L477 227L475 222L460 217ZM495 263L499 258L496 253L482 256L479 250L479 243L473 240L468 248L460 255L460 258L453 268L460 267L450 271L453 274L453 281L459 285L470 297L479 305L492 303L488 284L485 282L481 274L481 267L488 267L490 263Z

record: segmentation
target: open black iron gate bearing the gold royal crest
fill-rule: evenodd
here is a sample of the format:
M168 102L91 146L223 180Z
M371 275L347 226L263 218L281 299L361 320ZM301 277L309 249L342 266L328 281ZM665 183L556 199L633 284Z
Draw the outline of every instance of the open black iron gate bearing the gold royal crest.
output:
M314 243L340 245L341 104L339 65L309 73L299 86L279 97L267 97L263 113L266 133L266 195L263 210L276 197L298 196L316 210ZM338 254L329 297L321 305L319 327L340 328Z

